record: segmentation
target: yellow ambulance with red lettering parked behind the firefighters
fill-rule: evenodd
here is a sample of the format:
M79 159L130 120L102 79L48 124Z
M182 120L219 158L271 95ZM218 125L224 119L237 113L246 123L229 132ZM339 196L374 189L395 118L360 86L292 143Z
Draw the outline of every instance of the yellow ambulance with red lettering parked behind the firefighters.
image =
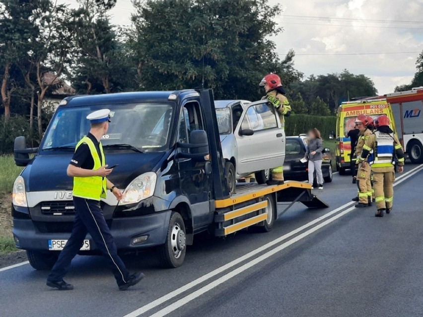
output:
M343 102L338 108L336 125L336 170L344 175L350 169L351 141L346 134L355 126L355 118L364 114L376 119L380 115L387 115L391 128L395 131L392 109L385 98L371 97L361 100Z

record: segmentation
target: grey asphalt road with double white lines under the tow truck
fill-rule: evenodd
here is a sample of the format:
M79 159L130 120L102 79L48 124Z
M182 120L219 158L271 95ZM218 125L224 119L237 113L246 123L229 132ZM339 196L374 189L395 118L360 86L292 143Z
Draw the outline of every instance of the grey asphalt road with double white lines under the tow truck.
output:
M74 259L70 292L28 264L0 269L0 316L423 316L422 177L406 165L383 218L351 208L356 187L335 175L316 190L330 208L297 203L267 234L202 235L180 268L157 268L152 252L125 256L146 274L126 292L100 256Z

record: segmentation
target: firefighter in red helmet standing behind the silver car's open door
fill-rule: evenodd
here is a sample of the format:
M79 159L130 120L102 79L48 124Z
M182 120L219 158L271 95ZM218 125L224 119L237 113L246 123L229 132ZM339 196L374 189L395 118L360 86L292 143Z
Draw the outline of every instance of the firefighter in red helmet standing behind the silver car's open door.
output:
M264 86L266 90L266 96L262 100L267 99L272 105L272 109L278 112L281 126L284 128L284 117L289 117L291 114L291 106L289 105L288 98L285 97L286 92L282 87L281 78L277 74L270 73L262 79L260 86ZM267 181L267 185L281 184L283 184L282 166L272 169L271 180Z

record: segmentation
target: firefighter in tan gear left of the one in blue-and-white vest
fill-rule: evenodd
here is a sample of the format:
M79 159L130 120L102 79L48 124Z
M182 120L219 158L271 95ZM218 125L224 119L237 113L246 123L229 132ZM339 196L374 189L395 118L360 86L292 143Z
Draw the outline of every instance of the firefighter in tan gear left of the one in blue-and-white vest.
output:
M361 155L365 141L371 135L371 131L367 128L369 122L366 115L358 115L355 119L355 125L360 130L358 134L357 147L355 154L357 157ZM372 204L371 199L371 184L370 184L370 166L368 164L358 163L357 169L357 188L358 188L358 203L356 208L368 207ZM354 199L355 200L355 199Z

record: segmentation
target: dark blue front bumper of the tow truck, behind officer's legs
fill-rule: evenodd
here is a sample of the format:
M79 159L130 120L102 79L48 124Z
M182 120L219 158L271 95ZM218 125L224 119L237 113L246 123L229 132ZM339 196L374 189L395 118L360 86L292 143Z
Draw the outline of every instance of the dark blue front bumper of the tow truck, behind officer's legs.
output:
M170 220L170 210L139 217L114 218L110 223L110 231L119 250L143 249L164 244ZM41 232L31 219L13 219L13 236L16 247L23 250L48 250L51 239L67 240L70 233ZM144 237L146 240L134 244L134 238ZM91 250L95 244L88 234Z

